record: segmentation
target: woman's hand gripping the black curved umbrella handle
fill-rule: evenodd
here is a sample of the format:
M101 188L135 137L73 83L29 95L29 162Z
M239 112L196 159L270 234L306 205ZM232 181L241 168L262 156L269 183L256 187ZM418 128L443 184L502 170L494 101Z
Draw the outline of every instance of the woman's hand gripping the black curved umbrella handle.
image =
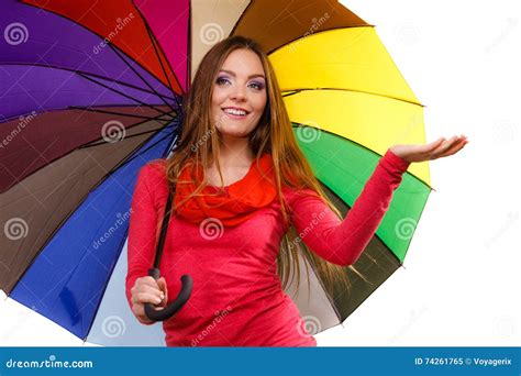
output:
M145 303L149 302L156 306L156 309L166 307L168 301L168 289L164 277L155 280L146 276L137 278L131 289L132 295L132 312L141 323L154 323L145 314Z

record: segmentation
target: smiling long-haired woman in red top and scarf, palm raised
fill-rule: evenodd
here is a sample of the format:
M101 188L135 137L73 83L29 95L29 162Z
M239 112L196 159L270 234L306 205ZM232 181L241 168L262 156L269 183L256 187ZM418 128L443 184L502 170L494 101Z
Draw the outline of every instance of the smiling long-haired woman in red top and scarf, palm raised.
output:
M152 323L144 303L165 307L181 275L193 279L186 306L163 323L169 346L317 345L284 292L297 252L325 280L341 278L341 266L355 263L376 232L410 163L455 154L467 143L454 136L391 146L342 221L297 145L257 43L235 36L213 46L184 108L176 153L140 172L129 234L126 296L140 322ZM174 186L164 277L156 283L146 275ZM306 234L304 244L295 233Z

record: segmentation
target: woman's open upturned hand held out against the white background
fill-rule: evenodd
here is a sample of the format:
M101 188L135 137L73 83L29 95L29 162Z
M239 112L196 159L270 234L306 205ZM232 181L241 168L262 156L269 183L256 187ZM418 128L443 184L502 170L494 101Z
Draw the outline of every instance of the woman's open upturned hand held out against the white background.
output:
M407 162L424 162L456 154L467 143L467 137L459 135L448 140L440 137L424 145L393 145L390 147L390 151Z

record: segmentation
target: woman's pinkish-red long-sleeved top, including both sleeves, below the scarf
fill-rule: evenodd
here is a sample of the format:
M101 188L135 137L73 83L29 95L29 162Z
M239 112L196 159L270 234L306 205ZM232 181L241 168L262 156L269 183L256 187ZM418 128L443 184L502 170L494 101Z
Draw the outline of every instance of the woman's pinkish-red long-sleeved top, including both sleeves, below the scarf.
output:
M285 187L292 223L298 233L306 233L303 242L331 263L353 264L375 234L409 164L388 150L344 220L311 190ZM132 199L129 233L131 306L130 289L153 264L167 193L165 165L144 166ZM313 230L306 231L310 226ZM167 345L315 346L315 340L302 332L297 306L277 275L275 261L286 231L277 199L247 221L213 235L201 236L198 224L173 215L162 275L169 300L177 296L184 274L191 275L193 289L186 306L163 323Z

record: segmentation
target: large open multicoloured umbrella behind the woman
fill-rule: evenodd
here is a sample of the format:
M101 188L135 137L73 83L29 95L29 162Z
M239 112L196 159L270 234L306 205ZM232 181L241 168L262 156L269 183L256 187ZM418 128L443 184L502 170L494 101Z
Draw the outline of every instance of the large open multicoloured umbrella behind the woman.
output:
M269 54L299 144L344 214L390 145L425 142L423 108L374 26L334 1L0 4L0 288L89 342L164 344L123 292L130 202L138 169L171 150L200 59L225 36ZM430 190L428 165L412 164L354 265L364 278L346 269L351 294L328 296L313 270L309 291L289 286L312 332L399 268Z

